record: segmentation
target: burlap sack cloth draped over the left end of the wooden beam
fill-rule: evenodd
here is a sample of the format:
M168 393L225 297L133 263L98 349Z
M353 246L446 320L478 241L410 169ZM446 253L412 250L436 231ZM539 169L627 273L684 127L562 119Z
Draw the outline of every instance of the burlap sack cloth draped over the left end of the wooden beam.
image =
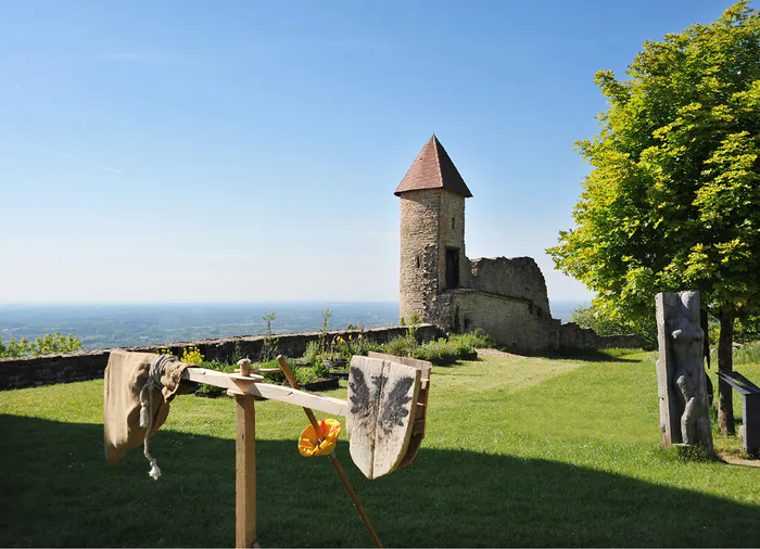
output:
M116 463L124 454L138 448L145 439L145 429L140 426L140 392L150 376L155 353L127 353L114 349L105 368L103 426L105 459ZM160 390L150 394L152 436L169 414L169 403L179 391L185 369L191 365L173 361L164 365ZM185 392L185 391L182 391Z

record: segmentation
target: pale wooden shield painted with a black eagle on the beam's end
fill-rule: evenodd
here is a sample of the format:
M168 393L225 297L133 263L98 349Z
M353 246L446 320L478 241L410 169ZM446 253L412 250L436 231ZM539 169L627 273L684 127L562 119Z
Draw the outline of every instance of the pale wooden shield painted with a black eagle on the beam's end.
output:
M417 416L421 370L381 358L355 356L349 371L351 459L367 478L397 469Z

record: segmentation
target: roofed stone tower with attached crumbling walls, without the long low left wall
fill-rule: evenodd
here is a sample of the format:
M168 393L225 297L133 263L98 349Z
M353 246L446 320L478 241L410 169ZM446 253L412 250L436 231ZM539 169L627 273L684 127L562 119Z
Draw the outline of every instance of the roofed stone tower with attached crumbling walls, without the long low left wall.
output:
M546 282L531 257L469 259L465 201L472 196L433 135L394 193L401 199L400 314L446 331L482 328L527 350L631 346L552 318Z

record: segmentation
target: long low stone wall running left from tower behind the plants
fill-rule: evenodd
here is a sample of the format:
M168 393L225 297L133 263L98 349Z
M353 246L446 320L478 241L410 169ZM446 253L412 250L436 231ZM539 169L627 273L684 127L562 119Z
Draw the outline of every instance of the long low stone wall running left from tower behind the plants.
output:
M364 336L377 343L388 343L393 337L406 333L405 327L370 328L364 331ZM356 337L360 332L339 330L329 332L332 341L337 335L349 339ZM443 335L432 324L421 324L417 332L420 340L432 340ZM319 332L302 332L277 335L278 352L288 357L300 357L306 350L311 341L319 340ZM263 335L241 335L220 340L201 340L195 342L177 342L166 345L140 345L126 347L127 350L155 353L159 349L169 349L179 357L182 349L198 347L206 360L218 359L231 361L236 356L248 356L252 360L258 358L265 337ZM53 383L94 380L103 376L109 362L109 349L85 350L61 355L41 355L37 357L0 358L0 390L31 387Z

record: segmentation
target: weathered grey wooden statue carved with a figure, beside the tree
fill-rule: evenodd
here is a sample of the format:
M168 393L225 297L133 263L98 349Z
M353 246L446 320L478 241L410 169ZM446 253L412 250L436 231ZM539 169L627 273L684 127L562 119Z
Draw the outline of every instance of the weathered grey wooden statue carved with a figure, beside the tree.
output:
M705 332L699 321L699 293L660 293L656 303L662 439L666 446L701 446L713 456L707 373L702 366Z

